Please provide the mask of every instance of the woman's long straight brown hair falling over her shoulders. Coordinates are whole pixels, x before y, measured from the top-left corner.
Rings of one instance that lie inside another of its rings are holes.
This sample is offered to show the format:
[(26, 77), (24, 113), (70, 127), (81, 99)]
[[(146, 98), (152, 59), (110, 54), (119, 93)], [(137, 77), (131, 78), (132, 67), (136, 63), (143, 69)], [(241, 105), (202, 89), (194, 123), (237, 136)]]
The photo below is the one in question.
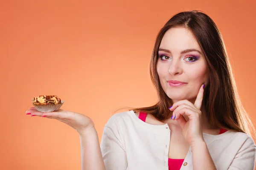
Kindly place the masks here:
[(206, 57), (209, 84), (205, 88), (203, 101), (209, 123), (214, 127), (236, 130), (250, 136), (251, 128), (255, 135), (250, 117), (241, 105), (221, 33), (213, 20), (202, 11), (180, 12), (159, 31), (150, 60), (150, 77), (157, 90), (159, 101), (150, 107), (130, 108), (130, 110), (146, 112), (160, 121), (172, 115), (169, 107), (173, 103), (160, 85), (156, 66), (163, 35), (173, 27), (185, 27), (192, 31)]

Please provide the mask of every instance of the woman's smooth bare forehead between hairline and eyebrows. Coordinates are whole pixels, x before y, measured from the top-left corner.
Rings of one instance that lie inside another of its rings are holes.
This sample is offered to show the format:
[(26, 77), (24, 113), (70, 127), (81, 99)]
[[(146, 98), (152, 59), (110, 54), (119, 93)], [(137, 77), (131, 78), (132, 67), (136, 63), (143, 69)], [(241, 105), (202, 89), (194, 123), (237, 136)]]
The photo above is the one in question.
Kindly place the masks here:
[(170, 28), (163, 36), (160, 48), (171, 51), (182, 51), (189, 48), (195, 48), (201, 51), (201, 48), (194, 35), (188, 28), (175, 27)]

